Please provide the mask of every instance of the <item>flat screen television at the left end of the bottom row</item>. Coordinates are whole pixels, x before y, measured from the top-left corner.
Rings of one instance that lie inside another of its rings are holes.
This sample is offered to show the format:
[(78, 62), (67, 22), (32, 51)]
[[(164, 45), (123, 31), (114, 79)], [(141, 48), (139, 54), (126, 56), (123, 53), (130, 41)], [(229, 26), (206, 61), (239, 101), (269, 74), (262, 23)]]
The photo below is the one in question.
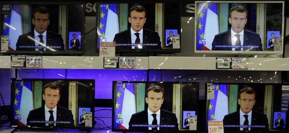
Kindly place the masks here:
[(11, 79), (10, 126), (14, 131), (89, 131), (94, 128), (94, 85), (88, 79)]

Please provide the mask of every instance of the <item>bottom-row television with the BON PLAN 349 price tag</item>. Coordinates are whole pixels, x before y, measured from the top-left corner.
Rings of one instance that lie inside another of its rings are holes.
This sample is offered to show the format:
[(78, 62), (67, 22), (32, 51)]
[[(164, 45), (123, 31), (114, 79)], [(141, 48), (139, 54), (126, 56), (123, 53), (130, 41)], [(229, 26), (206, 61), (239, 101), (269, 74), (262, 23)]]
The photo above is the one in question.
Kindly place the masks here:
[[(256, 95), (253, 91), (244, 88), (254, 89)], [(241, 93), (238, 96), (239, 92)], [(248, 124), (249, 133), (267, 133), (269, 131), (270, 133), (288, 133), (289, 131), (289, 85), (206, 83), (206, 94), (207, 122), (223, 121), (225, 132), (248, 132), (243, 129), (246, 125), (245, 118), (240, 114), (250, 111), (252, 113), (248, 113), (248, 120), (251, 118)], [(255, 101), (253, 95), (255, 95)], [(279, 115), (282, 119), (280, 121), (278, 120)]]

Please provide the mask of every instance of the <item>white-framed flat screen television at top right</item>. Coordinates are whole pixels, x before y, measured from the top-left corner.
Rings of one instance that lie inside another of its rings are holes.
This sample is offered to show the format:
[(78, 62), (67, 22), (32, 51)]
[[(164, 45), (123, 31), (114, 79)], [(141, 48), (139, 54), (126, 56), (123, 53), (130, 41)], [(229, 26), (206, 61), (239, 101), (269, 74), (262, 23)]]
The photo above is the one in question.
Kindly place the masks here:
[[(240, 5), (247, 10), (247, 17)], [(229, 14), (232, 7), (240, 8), (240, 12), (234, 8)], [(283, 54), (284, 10), (285, 1), (282, 0), (195, 1), (194, 51), (213, 54)], [(242, 16), (236, 16), (239, 14)], [(240, 40), (236, 34), (240, 35)]]

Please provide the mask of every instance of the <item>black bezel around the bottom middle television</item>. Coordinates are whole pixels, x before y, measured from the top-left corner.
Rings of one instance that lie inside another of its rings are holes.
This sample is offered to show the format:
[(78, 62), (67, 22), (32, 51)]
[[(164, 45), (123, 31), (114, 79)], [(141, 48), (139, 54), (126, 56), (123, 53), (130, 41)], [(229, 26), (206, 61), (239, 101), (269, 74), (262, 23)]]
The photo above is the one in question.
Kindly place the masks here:
[[(184, 133), (184, 132), (192, 132), (192, 133), (197, 133), (198, 131), (201, 131), (201, 129), (198, 129), (200, 126), (199, 126), (199, 124), (200, 124), (200, 122), (202, 121), (201, 119), (201, 116), (198, 116), (200, 113), (199, 113), (199, 111), (200, 111), (200, 107), (199, 107), (199, 91), (200, 91), (200, 83), (199, 82), (153, 82), (153, 81), (113, 81), (112, 82), (112, 96), (113, 96), (113, 98), (116, 96), (116, 93), (115, 93), (115, 84), (116, 83), (133, 83), (133, 84), (137, 84), (137, 83), (140, 83), (140, 84), (194, 84), (194, 85), (197, 85), (198, 87), (198, 89), (196, 90), (197, 91), (197, 99), (198, 99), (198, 101), (197, 101), (197, 105), (196, 105), (196, 110), (194, 110), (195, 112), (196, 112), (196, 116), (197, 116), (197, 121), (199, 121), (198, 123), (197, 123), (197, 131), (190, 131), (190, 130), (185, 130), (185, 129), (183, 129), (182, 127), (183, 127), (183, 118), (180, 118), (181, 120), (178, 120), (178, 122), (181, 122), (181, 124), (180, 123), (178, 123), (178, 125), (181, 127), (181, 129), (179, 129), (179, 131), (173, 131), (173, 130), (167, 130), (167, 131), (151, 131), (151, 130), (138, 130), (138, 131), (134, 131), (134, 130), (121, 130), (121, 129), (114, 129), (114, 114), (115, 114), (115, 105), (116, 105), (116, 100), (115, 99), (113, 99), (113, 101), (112, 101), (112, 103), (113, 103), (113, 105), (112, 105), (112, 107), (113, 107), (113, 109), (112, 109), (112, 131), (113, 132), (146, 132), (146, 133), (149, 133), (149, 132), (151, 132), (151, 133)], [(182, 99), (181, 99), (182, 100)], [(183, 111), (185, 111), (185, 110), (182, 110), (180, 113), (183, 113)], [(179, 115), (183, 115), (183, 114), (179, 114)], [(176, 116), (177, 116), (177, 114), (176, 114)]]

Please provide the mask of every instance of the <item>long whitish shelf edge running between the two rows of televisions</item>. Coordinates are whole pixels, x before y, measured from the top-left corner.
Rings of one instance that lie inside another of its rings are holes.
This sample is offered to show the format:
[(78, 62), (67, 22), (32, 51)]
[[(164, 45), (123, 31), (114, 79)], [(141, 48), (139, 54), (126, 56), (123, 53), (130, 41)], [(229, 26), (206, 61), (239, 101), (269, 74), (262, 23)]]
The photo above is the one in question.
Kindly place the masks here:
[[(44, 69), (104, 69), (99, 56), (42, 56)], [(10, 56), (0, 56), (0, 68), (10, 66)], [(248, 58), (248, 69), (216, 69), (216, 57), (136, 57), (136, 69), (289, 71), (289, 58)]]

